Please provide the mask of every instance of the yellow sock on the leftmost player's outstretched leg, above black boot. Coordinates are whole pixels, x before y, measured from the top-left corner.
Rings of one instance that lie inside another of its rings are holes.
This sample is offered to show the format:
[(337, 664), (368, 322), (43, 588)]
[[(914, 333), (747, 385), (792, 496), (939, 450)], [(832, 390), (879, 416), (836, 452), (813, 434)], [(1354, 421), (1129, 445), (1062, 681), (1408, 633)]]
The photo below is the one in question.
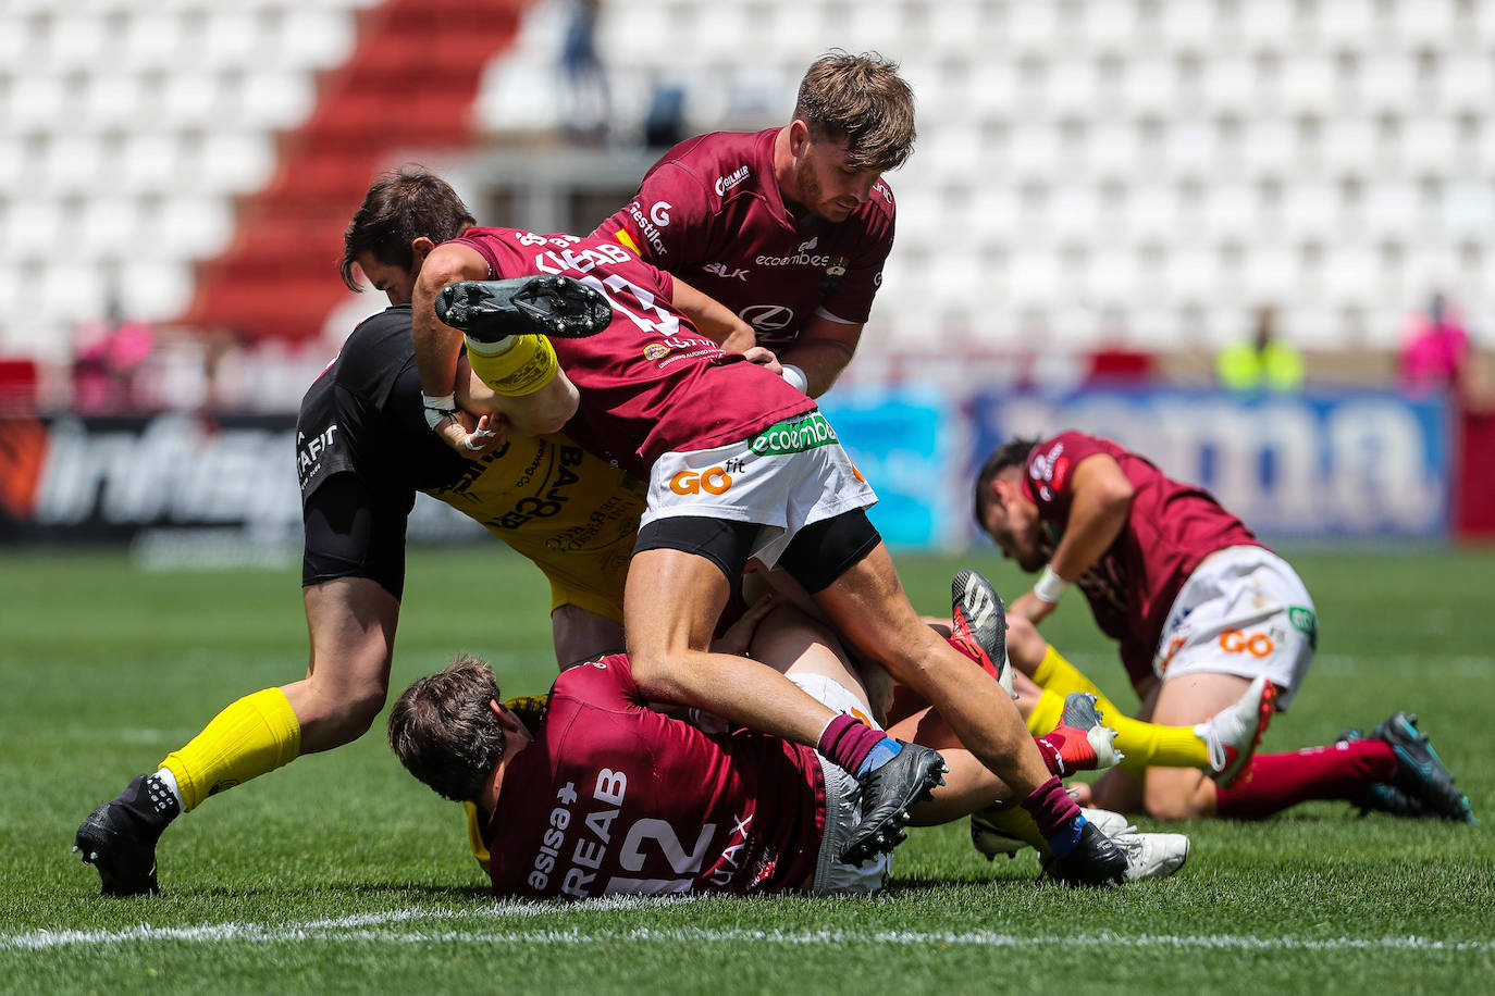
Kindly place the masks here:
[(289, 765), (300, 754), (300, 723), (280, 688), (265, 688), (229, 705), (161, 768), (176, 782), (182, 811), (208, 796)]

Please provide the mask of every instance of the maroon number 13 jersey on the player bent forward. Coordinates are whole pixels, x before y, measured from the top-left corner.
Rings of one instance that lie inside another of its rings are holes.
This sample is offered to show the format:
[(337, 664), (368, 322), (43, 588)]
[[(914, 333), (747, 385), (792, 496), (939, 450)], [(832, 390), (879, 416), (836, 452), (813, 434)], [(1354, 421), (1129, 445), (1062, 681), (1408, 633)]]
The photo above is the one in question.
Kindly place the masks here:
[(815, 409), (767, 369), (727, 354), (676, 312), (674, 281), (611, 239), (468, 228), (493, 278), (564, 273), (601, 291), (613, 324), (556, 339), (582, 402), (567, 435), (641, 481), (661, 454), (722, 446)]

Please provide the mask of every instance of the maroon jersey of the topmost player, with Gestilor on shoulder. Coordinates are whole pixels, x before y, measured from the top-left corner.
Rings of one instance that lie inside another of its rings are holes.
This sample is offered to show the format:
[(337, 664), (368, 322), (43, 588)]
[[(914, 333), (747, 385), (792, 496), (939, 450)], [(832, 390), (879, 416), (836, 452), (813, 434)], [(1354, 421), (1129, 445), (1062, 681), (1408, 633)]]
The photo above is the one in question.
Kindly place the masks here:
[(777, 133), (715, 131), (682, 142), (594, 233), (625, 231), (646, 260), (731, 308), (758, 345), (774, 351), (819, 309), (867, 321), (894, 217), (893, 190), (881, 179), (842, 222), (786, 205), (773, 176)]

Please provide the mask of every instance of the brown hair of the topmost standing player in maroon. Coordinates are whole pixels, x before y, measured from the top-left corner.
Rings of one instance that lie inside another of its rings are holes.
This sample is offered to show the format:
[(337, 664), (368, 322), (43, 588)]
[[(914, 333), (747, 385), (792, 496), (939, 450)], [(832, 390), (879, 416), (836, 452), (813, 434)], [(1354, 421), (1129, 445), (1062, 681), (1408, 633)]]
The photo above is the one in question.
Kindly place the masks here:
[(834, 49), (815, 60), (794, 118), (816, 139), (846, 139), (846, 161), (857, 169), (897, 169), (913, 152), (913, 91), (898, 64), (876, 52)]

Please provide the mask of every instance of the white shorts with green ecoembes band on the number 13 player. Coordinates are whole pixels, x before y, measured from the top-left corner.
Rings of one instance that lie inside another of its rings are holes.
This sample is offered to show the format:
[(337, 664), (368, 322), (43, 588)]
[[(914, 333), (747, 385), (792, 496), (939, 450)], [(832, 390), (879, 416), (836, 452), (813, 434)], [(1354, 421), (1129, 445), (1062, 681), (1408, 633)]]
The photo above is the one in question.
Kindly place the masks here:
[(749, 555), (773, 567), (806, 526), (876, 505), (819, 411), (713, 449), (667, 452), (649, 473), (649, 503), (638, 521), (673, 515), (762, 526)]

